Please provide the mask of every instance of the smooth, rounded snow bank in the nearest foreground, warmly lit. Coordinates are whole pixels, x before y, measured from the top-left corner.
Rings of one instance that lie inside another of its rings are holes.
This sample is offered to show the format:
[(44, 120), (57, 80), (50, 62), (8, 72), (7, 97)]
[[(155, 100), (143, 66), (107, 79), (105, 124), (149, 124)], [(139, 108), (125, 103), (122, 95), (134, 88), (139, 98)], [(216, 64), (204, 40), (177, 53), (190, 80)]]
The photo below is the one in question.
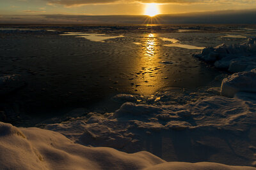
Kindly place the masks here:
[(148, 152), (124, 153), (73, 143), (58, 132), (0, 122), (1, 169), (256, 169), (210, 162), (165, 162)]

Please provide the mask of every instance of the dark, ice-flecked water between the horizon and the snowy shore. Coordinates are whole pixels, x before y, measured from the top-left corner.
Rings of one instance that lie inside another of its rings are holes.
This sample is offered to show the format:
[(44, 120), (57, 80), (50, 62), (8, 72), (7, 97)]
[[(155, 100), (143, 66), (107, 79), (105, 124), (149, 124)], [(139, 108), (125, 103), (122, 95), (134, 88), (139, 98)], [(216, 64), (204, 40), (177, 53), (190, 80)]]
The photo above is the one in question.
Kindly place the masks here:
[[(2, 97), (1, 110), (30, 117), (61, 115), (74, 108), (111, 111), (118, 107), (111, 97), (120, 93), (150, 96), (165, 87), (204, 87), (220, 71), (195, 59), (192, 54), (198, 49), (166, 45), (177, 41), (204, 47), (245, 40), (221, 37), (225, 32), (250, 36), (244, 27), (218, 25), (25, 27), (33, 31), (2, 27), (0, 76), (20, 74), (26, 86)], [(90, 34), (61, 36), (65, 32)], [(118, 37), (102, 42), (99, 36), (93, 39), (95, 34)]]

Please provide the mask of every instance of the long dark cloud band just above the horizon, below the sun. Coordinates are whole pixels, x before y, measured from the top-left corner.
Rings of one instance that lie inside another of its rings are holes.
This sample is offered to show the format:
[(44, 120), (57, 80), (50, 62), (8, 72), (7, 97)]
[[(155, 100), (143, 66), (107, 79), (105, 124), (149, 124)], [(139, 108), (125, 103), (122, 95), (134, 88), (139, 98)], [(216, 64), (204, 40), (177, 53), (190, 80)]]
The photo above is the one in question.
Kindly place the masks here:
[[(15, 20), (13, 19), (15, 18)], [(256, 10), (157, 15), (152, 24), (256, 24)], [(0, 24), (147, 24), (145, 15), (4, 15)], [(150, 23), (151, 24), (151, 23)]]

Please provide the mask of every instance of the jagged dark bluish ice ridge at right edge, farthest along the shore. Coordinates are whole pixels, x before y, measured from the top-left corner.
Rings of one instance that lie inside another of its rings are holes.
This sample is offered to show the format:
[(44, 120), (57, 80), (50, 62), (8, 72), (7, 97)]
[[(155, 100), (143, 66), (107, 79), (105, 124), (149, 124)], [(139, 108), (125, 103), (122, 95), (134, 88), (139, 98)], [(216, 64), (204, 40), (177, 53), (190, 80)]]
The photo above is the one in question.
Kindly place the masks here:
[(204, 48), (195, 57), (214, 62), (214, 66), (231, 72), (250, 71), (256, 68), (256, 38), (249, 38), (240, 45), (222, 44)]

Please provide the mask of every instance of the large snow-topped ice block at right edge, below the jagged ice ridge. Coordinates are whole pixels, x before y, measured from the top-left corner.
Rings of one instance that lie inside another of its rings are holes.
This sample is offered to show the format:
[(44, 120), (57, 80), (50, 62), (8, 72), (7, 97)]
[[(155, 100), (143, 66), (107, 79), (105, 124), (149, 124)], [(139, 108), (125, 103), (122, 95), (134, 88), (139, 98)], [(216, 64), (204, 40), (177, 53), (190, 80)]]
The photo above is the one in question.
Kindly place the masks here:
[(234, 97), (237, 92), (256, 93), (256, 69), (234, 73), (223, 79), (221, 95)]

